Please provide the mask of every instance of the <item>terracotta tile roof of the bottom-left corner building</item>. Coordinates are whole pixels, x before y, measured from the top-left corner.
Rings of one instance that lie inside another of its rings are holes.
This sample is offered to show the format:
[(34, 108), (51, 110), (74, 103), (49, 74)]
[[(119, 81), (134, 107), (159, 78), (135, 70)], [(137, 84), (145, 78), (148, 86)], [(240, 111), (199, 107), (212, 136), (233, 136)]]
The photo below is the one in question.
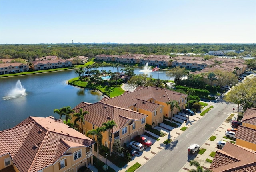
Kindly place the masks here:
[(20, 172), (37, 172), (56, 162), (68, 147), (95, 143), (52, 116), (29, 117), (22, 123), (0, 131), (0, 156), (10, 153)]

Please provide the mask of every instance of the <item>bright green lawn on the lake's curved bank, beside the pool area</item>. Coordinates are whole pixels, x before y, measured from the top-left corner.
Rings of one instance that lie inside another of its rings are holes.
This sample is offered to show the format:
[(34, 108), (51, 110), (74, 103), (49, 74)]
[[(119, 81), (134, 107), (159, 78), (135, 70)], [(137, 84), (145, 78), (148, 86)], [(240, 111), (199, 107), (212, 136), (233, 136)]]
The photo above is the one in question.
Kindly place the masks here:
[(68, 80), (68, 83), (71, 85), (74, 85), (74, 86), (82, 87), (82, 88), (90, 88), (90, 89), (99, 90), (100, 92), (102, 92), (103, 94), (106, 94), (110, 98), (119, 96), (125, 92), (121, 88), (121, 86), (111, 87), (111, 86), (100, 85), (100, 84), (88, 84), (88, 82), (79, 80), (78, 77)]

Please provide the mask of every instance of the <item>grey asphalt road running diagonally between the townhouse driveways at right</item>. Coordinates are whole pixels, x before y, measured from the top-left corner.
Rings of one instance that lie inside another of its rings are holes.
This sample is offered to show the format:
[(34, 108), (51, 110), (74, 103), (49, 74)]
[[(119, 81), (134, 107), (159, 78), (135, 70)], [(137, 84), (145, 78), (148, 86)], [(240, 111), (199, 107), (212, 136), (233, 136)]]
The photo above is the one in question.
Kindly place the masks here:
[(193, 155), (188, 157), (188, 146), (196, 143), (201, 147), (236, 106), (224, 101), (211, 104), (214, 105), (212, 110), (180, 134), (171, 144), (166, 145), (165, 149), (158, 152), (136, 172), (178, 172), (181, 170), (190, 158), (193, 159)]

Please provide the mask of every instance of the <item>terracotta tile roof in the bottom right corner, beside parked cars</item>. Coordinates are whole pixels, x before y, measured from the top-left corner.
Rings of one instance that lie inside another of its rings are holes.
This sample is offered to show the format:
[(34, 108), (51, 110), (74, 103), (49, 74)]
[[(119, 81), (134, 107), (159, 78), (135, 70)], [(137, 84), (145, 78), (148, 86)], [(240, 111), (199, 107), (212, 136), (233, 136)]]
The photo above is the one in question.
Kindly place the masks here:
[(216, 152), (210, 170), (213, 172), (245, 172), (245, 170), (255, 172), (256, 152), (227, 142), (222, 150)]

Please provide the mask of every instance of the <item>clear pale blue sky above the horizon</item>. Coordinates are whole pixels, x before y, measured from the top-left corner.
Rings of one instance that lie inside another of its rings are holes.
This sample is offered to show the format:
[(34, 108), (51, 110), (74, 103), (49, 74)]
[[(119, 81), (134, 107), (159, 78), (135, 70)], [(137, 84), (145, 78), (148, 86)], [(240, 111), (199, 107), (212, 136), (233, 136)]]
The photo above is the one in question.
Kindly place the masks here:
[(0, 0), (0, 44), (256, 43), (256, 0)]

